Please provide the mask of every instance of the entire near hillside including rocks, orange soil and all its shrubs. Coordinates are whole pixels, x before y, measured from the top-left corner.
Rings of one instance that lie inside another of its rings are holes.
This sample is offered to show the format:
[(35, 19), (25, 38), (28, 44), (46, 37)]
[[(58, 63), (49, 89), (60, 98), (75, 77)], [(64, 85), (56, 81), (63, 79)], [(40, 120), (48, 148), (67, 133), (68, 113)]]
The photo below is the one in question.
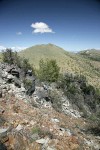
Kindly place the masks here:
[(40, 61), (35, 77), (29, 61), (11, 49), (3, 52), (3, 61), (0, 148), (100, 149), (100, 91), (87, 76), (61, 74), (57, 61), (47, 59)]

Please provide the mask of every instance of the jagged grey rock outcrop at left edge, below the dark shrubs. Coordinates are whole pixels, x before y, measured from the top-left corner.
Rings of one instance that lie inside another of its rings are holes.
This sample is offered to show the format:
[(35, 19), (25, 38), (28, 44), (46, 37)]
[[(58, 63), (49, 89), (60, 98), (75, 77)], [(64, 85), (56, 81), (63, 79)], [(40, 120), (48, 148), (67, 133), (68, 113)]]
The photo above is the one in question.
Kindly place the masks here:
[[(22, 97), (24, 95), (32, 95), (35, 91), (35, 77), (29, 72), (26, 76), (23, 71), (14, 65), (0, 64), (0, 97), (10, 93)], [(28, 88), (25, 87), (24, 81), (30, 81)]]

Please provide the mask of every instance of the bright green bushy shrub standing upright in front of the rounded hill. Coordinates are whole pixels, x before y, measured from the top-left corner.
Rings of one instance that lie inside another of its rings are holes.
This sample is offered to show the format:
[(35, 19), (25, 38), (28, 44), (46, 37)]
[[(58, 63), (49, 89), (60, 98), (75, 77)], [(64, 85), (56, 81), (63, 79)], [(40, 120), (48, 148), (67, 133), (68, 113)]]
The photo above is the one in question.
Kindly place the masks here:
[(56, 82), (59, 77), (60, 68), (56, 60), (43, 59), (39, 62), (38, 77), (41, 81)]

